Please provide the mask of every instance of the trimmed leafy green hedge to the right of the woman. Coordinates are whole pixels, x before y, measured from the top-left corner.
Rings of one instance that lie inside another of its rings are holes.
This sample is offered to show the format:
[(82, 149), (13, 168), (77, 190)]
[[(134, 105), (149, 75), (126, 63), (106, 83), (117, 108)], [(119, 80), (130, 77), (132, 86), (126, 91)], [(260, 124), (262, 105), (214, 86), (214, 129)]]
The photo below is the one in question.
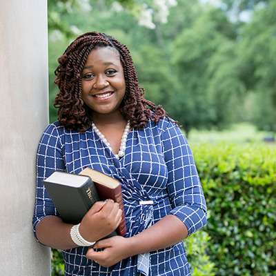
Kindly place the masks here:
[(193, 146), (219, 276), (276, 275), (276, 145)]

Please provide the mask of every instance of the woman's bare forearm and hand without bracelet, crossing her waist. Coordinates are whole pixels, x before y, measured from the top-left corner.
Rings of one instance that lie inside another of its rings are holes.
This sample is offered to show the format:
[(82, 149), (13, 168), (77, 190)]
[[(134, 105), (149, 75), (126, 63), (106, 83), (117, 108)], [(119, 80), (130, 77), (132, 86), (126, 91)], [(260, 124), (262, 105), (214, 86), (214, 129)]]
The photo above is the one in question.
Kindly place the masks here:
[[(188, 235), (186, 225), (175, 215), (167, 215), (133, 237), (103, 239), (88, 249), (86, 257), (101, 266), (112, 266), (139, 253), (152, 252), (181, 242)], [(103, 248), (96, 252), (94, 249)]]

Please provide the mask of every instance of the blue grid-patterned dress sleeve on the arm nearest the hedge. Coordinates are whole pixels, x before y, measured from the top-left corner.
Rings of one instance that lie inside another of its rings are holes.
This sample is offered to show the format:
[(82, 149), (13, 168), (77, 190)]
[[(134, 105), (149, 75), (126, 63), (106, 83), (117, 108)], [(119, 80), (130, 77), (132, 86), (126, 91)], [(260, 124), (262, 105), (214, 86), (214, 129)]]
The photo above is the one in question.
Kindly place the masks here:
[(168, 167), (168, 193), (172, 202), (170, 214), (177, 216), (192, 235), (206, 225), (206, 201), (186, 137), (174, 124), (161, 135)]

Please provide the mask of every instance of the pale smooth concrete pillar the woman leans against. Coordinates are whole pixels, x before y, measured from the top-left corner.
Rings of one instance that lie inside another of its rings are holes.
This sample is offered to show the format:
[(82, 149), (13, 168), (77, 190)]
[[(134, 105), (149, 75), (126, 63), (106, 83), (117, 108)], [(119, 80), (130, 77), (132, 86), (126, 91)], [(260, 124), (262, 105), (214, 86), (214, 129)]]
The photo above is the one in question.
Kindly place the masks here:
[(32, 233), (37, 144), (48, 125), (47, 1), (0, 4), (0, 274), (50, 275), (50, 249)]

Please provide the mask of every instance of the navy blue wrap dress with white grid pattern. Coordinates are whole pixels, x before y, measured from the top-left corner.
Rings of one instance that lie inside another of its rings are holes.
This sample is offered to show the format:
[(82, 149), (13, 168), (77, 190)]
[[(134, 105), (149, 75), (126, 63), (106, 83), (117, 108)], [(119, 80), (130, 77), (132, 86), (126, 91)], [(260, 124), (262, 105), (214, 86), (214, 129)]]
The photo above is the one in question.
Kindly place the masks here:
[[(90, 166), (121, 181), (127, 233), (137, 235), (162, 217), (177, 216), (191, 235), (206, 224), (206, 201), (190, 146), (181, 130), (164, 118), (132, 129), (121, 159), (110, 152), (94, 130), (83, 134), (66, 130), (59, 122), (43, 132), (37, 151), (37, 196), (34, 235), (39, 221), (59, 216), (43, 186), (54, 170), (78, 174)], [(139, 201), (152, 200), (152, 205)], [(86, 247), (63, 250), (65, 275), (190, 275), (183, 242), (136, 255), (104, 268), (86, 258)]]

